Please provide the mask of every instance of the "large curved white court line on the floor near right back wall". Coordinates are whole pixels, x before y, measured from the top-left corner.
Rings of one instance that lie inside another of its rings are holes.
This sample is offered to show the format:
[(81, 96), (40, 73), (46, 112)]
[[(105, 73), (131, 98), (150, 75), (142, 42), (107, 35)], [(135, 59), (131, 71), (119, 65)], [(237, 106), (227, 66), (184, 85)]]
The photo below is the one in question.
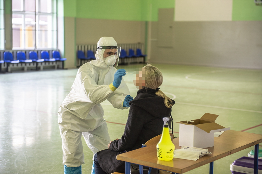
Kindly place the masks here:
[(190, 78), (192, 76), (196, 76), (196, 75), (201, 75), (201, 74), (211, 74), (211, 73), (219, 73), (219, 72), (227, 72), (227, 71), (236, 71), (238, 69), (223, 69), (223, 70), (215, 70), (215, 71), (206, 71), (206, 72), (199, 72), (199, 73), (191, 73), (191, 74), (188, 74), (185, 76), (185, 78), (187, 80), (191, 80), (191, 81), (196, 81), (196, 82), (211, 82), (211, 83), (231, 83), (231, 84), (259, 84), (259, 83), (262, 83), (262, 82), (232, 82), (232, 81), (213, 81), (213, 80), (198, 80), (198, 79), (193, 79), (193, 78)]

